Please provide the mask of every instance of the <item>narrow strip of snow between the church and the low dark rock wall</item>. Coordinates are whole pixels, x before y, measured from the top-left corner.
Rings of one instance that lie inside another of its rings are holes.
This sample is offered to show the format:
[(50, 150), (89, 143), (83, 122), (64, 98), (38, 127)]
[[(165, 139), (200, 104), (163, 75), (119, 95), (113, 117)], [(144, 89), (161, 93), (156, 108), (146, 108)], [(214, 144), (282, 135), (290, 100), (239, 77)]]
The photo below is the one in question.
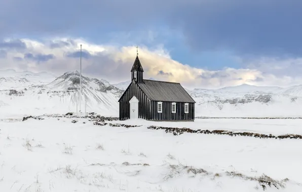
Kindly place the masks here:
[[(125, 121), (116, 121), (125, 123)], [(154, 125), (162, 127), (177, 127), (202, 130), (227, 130), (254, 132), (260, 134), (301, 134), (302, 119), (195, 119), (194, 122), (157, 122), (127, 120), (129, 125)]]

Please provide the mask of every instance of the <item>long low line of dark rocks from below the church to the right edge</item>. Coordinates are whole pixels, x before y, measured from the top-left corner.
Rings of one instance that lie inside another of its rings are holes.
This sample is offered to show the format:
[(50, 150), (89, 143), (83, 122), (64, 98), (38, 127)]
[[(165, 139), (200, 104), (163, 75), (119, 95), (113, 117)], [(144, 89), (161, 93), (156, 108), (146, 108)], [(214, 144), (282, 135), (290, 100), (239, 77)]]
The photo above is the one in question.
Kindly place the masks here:
[(203, 133), (203, 134), (219, 134), (219, 135), (229, 135), (229, 136), (249, 136), (255, 138), (275, 138), (275, 139), (302, 139), (302, 135), (297, 134), (286, 134), (286, 135), (279, 135), (275, 136), (272, 134), (259, 134), (259, 133), (252, 133), (252, 132), (234, 132), (234, 131), (226, 131), (226, 130), (193, 130), (190, 128), (173, 128), (173, 127), (160, 127), (160, 126), (149, 126), (148, 129), (163, 129), (166, 133), (173, 133), (173, 135), (181, 135), (183, 133)]

